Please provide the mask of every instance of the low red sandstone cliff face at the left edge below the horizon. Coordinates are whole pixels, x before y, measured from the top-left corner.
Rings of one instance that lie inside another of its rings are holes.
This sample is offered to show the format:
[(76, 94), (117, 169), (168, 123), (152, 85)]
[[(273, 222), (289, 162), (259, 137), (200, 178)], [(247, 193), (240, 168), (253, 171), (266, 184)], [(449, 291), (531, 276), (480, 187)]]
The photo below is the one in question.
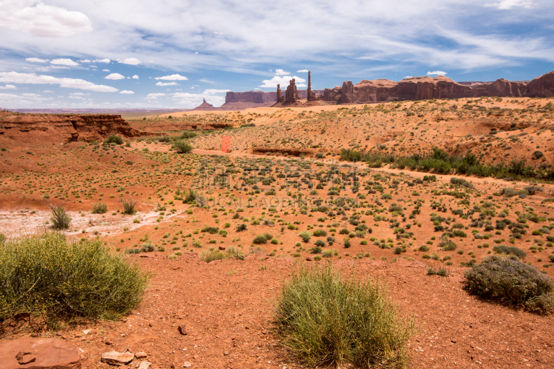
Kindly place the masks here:
[(144, 134), (130, 127), (118, 115), (28, 115), (6, 112), (0, 118), (0, 136), (24, 142), (90, 142), (102, 140), (109, 134), (125, 137)]

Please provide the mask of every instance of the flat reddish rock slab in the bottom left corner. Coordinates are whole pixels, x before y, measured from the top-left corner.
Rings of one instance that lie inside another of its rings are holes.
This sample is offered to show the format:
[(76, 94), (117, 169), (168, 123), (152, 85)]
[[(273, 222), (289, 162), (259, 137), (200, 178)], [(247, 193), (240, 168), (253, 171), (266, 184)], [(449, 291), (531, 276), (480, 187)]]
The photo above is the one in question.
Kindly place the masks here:
[(63, 339), (21, 337), (0, 343), (0, 369), (80, 369), (77, 348)]

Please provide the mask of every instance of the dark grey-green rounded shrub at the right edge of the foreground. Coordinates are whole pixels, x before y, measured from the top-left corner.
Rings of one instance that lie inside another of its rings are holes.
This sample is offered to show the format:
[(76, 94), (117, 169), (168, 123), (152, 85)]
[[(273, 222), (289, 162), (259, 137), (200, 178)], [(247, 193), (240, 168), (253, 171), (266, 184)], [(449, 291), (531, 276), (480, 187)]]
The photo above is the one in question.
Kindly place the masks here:
[(470, 294), (523, 305), (538, 312), (554, 309), (554, 283), (546, 274), (519, 260), (493, 255), (465, 272)]

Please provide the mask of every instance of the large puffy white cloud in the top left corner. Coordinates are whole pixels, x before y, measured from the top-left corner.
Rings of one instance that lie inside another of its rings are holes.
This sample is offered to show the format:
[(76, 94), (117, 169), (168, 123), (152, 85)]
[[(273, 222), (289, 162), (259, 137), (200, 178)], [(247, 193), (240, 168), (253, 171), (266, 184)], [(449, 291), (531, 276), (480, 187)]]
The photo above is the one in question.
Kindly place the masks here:
[(30, 33), (37, 37), (71, 37), (91, 32), (90, 19), (75, 12), (37, 3), (35, 0), (0, 2), (0, 28)]

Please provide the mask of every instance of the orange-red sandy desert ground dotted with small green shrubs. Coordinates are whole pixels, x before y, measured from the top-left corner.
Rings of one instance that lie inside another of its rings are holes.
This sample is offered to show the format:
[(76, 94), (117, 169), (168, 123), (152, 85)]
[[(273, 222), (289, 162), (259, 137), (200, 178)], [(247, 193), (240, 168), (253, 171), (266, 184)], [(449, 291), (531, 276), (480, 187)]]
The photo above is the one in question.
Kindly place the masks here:
[(276, 298), (298, 265), (331, 263), (382, 280), (414, 319), (410, 367), (548, 368), (551, 314), (464, 280), (490, 255), (554, 276), (552, 101), (2, 111), (5, 242), (50, 234), (60, 206), (68, 240), (100, 240), (151, 273), (116, 321), (37, 331), (39, 317), (13, 317), (3, 340), (62, 337), (85, 368), (108, 368), (111, 351), (139, 352), (128, 366), (303, 367), (279, 339)]

